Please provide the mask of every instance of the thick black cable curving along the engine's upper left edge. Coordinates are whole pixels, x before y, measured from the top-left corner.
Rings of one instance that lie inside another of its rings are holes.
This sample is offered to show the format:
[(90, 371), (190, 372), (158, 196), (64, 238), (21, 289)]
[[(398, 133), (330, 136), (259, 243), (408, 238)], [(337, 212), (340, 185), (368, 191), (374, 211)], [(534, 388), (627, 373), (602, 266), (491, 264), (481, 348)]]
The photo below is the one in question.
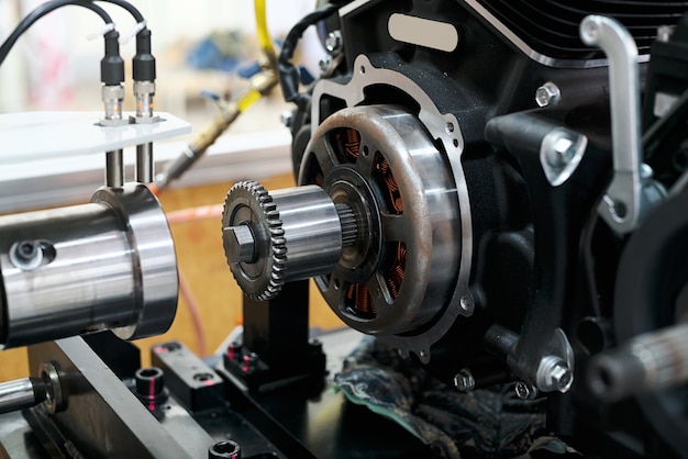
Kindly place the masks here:
[(279, 52), (278, 71), (279, 71), (279, 85), (281, 86), (282, 96), (287, 102), (301, 102), (299, 99), (302, 94), (299, 93), (300, 74), (299, 69), (291, 63), (293, 53), (296, 52), (297, 44), (303, 32), (317, 22), (322, 21), (332, 13), (334, 13), (339, 7), (334, 4), (328, 4), (312, 13), (306, 15), (289, 31), (285, 43)]

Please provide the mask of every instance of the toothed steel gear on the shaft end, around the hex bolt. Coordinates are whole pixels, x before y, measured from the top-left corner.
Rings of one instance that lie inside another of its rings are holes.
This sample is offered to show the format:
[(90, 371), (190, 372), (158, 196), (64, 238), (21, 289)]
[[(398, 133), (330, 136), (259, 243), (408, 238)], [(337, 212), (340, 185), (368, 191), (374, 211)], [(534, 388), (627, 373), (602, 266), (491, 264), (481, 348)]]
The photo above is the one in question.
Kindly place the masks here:
[[(244, 225), (251, 232), (252, 256), (235, 254), (236, 235), (231, 228)], [(235, 183), (224, 201), (222, 240), (234, 279), (253, 300), (266, 301), (279, 293), (285, 283), (287, 244), (285, 229), (273, 197), (258, 182)], [(267, 244), (256, 244), (260, 240)]]

